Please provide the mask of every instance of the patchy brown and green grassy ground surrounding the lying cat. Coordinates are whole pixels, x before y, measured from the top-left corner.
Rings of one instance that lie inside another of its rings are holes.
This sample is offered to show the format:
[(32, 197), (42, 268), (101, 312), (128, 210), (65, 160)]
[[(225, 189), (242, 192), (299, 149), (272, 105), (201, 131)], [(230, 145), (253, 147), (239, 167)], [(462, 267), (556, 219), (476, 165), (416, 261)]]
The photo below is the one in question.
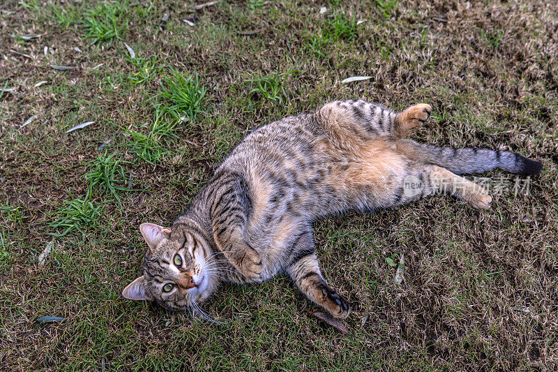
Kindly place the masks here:
[[(556, 1), (199, 3), (1, 3), (0, 369), (555, 369)], [(253, 128), (335, 98), (428, 103), (416, 140), (543, 172), (519, 193), (484, 174), (488, 211), (437, 196), (317, 222), (349, 335), (285, 276), (225, 287), (204, 305), (224, 324), (121, 297), (140, 223), (171, 222)]]

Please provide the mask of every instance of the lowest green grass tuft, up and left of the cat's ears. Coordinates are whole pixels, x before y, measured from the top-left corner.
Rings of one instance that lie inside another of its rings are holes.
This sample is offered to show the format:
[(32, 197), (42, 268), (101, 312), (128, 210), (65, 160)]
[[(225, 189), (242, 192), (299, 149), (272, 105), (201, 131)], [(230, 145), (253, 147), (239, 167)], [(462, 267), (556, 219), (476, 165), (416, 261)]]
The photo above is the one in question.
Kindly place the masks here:
[(63, 237), (74, 230), (82, 232), (82, 228), (95, 223), (100, 215), (100, 206), (95, 207), (89, 198), (65, 200), (64, 203), (66, 205), (54, 213), (54, 222), (48, 225), (55, 230), (63, 229), (60, 233), (50, 233), (55, 237)]

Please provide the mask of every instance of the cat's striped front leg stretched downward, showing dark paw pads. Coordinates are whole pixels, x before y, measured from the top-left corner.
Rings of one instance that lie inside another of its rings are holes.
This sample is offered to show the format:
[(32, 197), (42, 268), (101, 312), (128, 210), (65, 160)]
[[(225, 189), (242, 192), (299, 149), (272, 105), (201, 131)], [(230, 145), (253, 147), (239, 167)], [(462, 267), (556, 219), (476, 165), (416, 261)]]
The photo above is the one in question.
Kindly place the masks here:
[(319, 270), (314, 250), (312, 232), (300, 235), (294, 246), (295, 255), (287, 267), (287, 273), (308, 299), (325, 308), (335, 318), (347, 318), (351, 308), (345, 299), (326, 283)]

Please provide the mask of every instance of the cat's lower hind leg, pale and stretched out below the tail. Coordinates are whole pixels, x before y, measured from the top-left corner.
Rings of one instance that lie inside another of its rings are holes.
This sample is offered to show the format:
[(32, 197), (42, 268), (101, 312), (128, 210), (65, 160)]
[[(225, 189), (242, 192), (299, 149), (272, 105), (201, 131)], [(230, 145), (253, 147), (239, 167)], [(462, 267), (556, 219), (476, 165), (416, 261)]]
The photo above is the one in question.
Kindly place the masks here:
[(480, 185), (437, 165), (426, 165), (417, 176), (409, 174), (403, 184), (404, 202), (435, 193), (448, 193), (465, 200), (476, 209), (489, 209), (492, 198)]

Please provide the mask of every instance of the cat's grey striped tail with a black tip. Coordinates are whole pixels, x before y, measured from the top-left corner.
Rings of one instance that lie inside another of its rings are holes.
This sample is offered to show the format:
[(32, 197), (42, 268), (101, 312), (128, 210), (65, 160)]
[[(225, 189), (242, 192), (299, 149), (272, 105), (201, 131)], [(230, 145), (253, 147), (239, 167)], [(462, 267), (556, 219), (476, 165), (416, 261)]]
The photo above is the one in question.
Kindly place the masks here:
[(455, 174), (482, 173), (499, 168), (515, 174), (534, 175), (541, 173), (543, 169), (542, 163), (510, 151), (469, 147), (453, 149), (413, 140), (400, 140), (397, 147), (417, 161), (439, 165)]

